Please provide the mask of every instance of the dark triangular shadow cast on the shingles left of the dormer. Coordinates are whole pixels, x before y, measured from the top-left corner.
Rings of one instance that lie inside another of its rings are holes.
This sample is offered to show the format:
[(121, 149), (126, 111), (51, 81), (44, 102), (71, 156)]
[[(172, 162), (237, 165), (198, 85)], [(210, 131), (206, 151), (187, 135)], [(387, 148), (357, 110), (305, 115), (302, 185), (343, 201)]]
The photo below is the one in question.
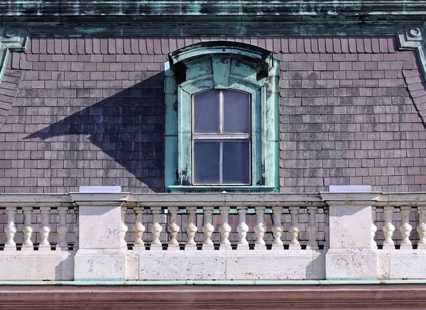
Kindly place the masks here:
[[(153, 192), (163, 192), (163, 80), (163, 73), (152, 75), (31, 133), (25, 139), (46, 140), (60, 135), (89, 135), (91, 143), (114, 158)], [(85, 98), (86, 103), (93, 99)]]

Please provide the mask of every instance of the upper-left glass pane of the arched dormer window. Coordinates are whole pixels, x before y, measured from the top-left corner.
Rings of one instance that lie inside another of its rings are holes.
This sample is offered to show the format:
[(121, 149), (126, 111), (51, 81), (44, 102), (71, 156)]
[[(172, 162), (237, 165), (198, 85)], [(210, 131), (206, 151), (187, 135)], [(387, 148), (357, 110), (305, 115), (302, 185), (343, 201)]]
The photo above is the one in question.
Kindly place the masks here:
[(202, 92), (194, 96), (194, 132), (219, 132), (219, 91)]

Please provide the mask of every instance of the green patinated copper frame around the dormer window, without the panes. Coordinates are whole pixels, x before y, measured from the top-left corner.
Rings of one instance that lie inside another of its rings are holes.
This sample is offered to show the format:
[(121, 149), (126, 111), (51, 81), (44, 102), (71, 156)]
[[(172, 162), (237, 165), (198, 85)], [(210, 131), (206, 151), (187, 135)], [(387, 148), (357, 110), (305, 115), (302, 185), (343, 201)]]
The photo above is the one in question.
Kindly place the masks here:
[[(278, 72), (271, 52), (244, 43), (199, 43), (165, 63), (165, 190), (278, 192)], [(212, 89), (248, 93), (251, 184), (192, 184), (192, 96)]]

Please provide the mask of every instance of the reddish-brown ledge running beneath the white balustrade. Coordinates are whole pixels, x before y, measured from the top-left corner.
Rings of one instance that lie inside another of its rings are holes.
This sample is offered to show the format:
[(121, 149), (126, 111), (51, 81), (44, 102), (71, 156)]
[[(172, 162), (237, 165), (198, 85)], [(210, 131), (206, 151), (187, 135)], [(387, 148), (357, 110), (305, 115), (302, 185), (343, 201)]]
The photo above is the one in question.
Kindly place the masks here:
[(8, 286), (0, 309), (420, 309), (426, 284)]

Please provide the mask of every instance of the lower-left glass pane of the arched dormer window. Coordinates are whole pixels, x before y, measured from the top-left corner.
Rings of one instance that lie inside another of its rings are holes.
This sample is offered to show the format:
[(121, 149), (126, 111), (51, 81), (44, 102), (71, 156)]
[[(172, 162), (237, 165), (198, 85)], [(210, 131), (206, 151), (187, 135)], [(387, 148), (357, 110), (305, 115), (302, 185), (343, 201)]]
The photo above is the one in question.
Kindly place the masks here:
[(219, 184), (220, 142), (194, 141), (194, 183)]

